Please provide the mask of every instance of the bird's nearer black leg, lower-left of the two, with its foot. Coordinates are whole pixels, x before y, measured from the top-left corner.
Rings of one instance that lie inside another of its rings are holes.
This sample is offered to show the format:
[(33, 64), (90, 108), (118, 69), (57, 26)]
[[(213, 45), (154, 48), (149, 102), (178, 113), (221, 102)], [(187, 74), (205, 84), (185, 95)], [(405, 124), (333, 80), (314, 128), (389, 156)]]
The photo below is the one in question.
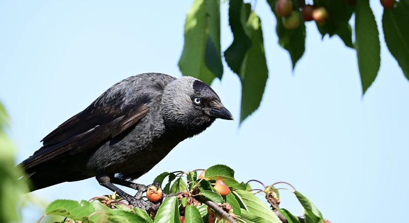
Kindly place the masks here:
[(108, 176), (108, 175), (97, 175), (97, 180), (101, 186), (104, 186), (108, 189), (110, 189), (113, 192), (117, 192), (119, 196), (121, 196), (123, 199), (129, 202), (130, 205), (133, 207), (140, 208), (142, 210), (145, 210), (147, 213), (150, 213), (153, 209), (156, 209), (159, 204), (152, 203), (150, 201), (144, 201), (143, 199), (137, 199), (133, 197), (132, 195), (124, 192), (123, 190), (119, 189), (117, 186), (115, 186), (112, 182), (111, 179), (113, 179), (113, 176)]

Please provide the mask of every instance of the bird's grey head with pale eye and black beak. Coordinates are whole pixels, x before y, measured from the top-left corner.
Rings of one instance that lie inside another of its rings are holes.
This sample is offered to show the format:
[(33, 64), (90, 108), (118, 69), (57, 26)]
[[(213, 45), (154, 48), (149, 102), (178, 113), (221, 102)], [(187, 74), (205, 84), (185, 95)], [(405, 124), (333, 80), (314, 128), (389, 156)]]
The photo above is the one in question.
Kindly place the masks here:
[(216, 118), (233, 120), (219, 96), (207, 84), (193, 77), (182, 77), (169, 83), (162, 96), (166, 124), (198, 134)]

